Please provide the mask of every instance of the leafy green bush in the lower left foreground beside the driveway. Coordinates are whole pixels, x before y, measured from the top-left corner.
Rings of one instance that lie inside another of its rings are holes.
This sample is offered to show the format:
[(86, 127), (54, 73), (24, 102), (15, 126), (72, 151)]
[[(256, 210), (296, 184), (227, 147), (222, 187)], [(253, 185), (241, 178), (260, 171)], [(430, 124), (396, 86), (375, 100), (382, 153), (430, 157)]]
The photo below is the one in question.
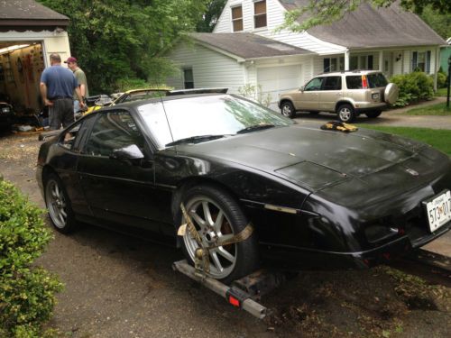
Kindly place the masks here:
[(32, 267), (51, 241), (42, 211), (0, 178), (0, 336), (43, 337), (60, 281)]

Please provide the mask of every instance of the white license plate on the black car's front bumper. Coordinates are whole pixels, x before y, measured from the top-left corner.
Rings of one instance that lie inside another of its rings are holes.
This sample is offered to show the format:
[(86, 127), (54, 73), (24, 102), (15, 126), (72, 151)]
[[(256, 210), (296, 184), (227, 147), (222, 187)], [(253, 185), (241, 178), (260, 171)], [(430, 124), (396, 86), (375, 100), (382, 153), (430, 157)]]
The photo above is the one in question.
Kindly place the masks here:
[(424, 204), (431, 233), (451, 221), (451, 193), (449, 190), (424, 201)]

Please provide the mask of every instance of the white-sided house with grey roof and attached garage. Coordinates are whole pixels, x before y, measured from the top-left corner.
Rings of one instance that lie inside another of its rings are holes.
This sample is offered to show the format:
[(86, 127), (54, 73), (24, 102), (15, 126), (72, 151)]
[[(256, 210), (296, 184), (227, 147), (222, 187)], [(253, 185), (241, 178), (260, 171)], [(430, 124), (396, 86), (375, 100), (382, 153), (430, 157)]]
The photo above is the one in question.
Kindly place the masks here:
[[(192, 33), (166, 53), (180, 69), (176, 88), (260, 87), (277, 102), (281, 92), (314, 75), (344, 69), (381, 69), (387, 77), (421, 69), (437, 73), (446, 44), (416, 14), (394, 3), (364, 3), (329, 25), (306, 32), (277, 31), (284, 14), (308, 0), (228, 0), (212, 33)], [(264, 37), (259, 40), (258, 37)]]

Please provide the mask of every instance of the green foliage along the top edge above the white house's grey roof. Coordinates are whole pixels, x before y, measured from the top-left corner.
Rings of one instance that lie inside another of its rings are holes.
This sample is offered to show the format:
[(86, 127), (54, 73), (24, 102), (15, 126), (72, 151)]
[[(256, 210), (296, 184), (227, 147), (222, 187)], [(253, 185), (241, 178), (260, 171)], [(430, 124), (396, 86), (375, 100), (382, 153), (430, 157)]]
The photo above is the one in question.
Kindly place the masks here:
[[(292, 32), (302, 32), (319, 24), (334, 23), (346, 13), (352, 12), (364, 2), (379, 7), (388, 7), (396, 0), (306, 0), (305, 5), (293, 9), (285, 14), (285, 21), (280, 29)], [(416, 14), (430, 6), (439, 14), (451, 13), (449, 0), (400, 0), (400, 5)], [(302, 18), (303, 20), (299, 20)]]

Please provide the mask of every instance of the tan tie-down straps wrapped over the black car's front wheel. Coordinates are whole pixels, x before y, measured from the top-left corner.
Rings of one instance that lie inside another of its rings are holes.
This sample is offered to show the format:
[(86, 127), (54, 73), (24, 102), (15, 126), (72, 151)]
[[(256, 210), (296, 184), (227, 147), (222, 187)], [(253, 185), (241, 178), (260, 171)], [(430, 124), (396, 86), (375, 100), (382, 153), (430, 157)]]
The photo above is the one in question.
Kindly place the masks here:
[(210, 272), (210, 260), (208, 257), (211, 249), (216, 249), (220, 246), (226, 246), (238, 242), (244, 242), (253, 234), (253, 224), (247, 224), (244, 229), (240, 233), (235, 234), (234, 237), (226, 241), (216, 241), (216, 243), (212, 245), (205, 246), (200, 238), (200, 235), (198, 234), (198, 231), (196, 230), (196, 226), (193, 224), (191, 217), (189, 217), (187, 209), (183, 206), (183, 204), (180, 204), (180, 209), (187, 223), (179, 226), (177, 234), (179, 236), (184, 236), (188, 228), (189, 234), (198, 243), (198, 249), (196, 249), (194, 254), (194, 267), (198, 271), (201, 271), (204, 276)]

